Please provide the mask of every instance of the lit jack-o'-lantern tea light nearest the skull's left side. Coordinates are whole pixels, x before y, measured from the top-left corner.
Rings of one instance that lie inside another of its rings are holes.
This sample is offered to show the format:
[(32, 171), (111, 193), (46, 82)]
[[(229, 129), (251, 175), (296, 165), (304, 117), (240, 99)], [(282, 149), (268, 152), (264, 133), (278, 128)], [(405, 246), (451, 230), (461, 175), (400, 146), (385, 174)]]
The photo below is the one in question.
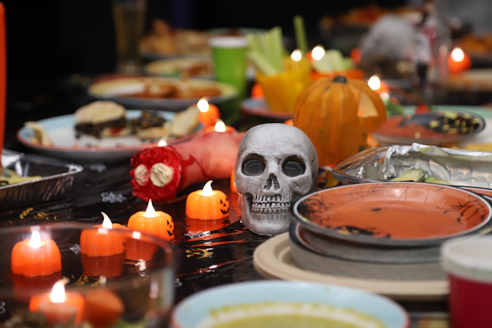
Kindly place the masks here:
[(212, 190), (209, 180), (202, 190), (193, 191), (186, 198), (186, 216), (192, 219), (213, 220), (229, 216), (229, 199), (220, 190)]

